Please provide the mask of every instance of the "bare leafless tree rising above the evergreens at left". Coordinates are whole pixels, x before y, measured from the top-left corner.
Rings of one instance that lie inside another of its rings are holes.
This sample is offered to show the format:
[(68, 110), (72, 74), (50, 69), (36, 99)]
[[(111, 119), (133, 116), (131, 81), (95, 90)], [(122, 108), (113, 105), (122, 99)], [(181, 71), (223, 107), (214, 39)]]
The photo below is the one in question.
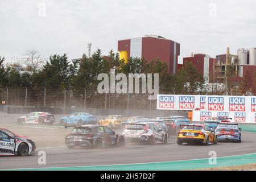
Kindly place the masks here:
[(38, 71), (38, 69), (40, 69), (40, 67), (42, 67), (44, 63), (46, 63), (46, 59), (43, 59), (39, 55), (39, 52), (35, 49), (28, 50), (26, 53), (24, 53), (24, 56), (26, 56), (24, 64), (26, 64), (29, 71), (31, 70), (33, 72), (36, 72)]

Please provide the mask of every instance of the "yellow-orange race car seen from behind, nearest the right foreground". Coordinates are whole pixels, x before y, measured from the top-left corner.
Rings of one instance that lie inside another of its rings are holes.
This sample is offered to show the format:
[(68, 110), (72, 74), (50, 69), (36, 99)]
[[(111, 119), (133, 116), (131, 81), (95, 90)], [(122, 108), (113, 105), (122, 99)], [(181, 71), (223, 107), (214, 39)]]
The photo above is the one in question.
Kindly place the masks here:
[(209, 143), (217, 144), (217, 135), (213, 133), (207, 125), (189, 124), (184, 125), (183, 129), (177, 134), (177, 144), (183, 143), (201, 143), (208, 145)]

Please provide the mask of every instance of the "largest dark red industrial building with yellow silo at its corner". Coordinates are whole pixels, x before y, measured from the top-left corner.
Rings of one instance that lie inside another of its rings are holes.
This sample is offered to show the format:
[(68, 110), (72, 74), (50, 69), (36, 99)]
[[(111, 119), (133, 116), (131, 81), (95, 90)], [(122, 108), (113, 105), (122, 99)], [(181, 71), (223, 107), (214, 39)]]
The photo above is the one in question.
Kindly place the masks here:
[(141, 38), (118, 40), (120, 58), (144, 58), (147, 62), (159, 59), (167, 63), (169, 72), (176, 73), (180, 44), (158, 35), (145, 35)]

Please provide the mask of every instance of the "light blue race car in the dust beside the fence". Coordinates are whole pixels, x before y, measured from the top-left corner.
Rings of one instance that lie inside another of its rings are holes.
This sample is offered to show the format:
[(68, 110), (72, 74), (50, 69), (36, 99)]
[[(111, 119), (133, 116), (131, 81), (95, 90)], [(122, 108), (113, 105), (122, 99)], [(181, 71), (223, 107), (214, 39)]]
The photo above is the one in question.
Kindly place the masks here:
[(68, 126), (82, 126), (82, 125), (96, 125), (98, 119), (89, 113), (72, 113), (68, 117), (60, 119), (60, 125)]

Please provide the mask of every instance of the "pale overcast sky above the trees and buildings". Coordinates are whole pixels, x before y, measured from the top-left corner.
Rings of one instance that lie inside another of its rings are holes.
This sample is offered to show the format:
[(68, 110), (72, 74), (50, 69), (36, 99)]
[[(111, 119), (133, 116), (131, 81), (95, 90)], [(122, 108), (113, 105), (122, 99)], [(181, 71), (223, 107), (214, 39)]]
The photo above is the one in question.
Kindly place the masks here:
[(215, 57), (227, 46), (256, 47), (254, 0), (0, 0), (0, 56), (22, 59), (28, 49), (69, 59), (117, 51), (117, 41), (156, 34), (181, 44), (182, 58)]

